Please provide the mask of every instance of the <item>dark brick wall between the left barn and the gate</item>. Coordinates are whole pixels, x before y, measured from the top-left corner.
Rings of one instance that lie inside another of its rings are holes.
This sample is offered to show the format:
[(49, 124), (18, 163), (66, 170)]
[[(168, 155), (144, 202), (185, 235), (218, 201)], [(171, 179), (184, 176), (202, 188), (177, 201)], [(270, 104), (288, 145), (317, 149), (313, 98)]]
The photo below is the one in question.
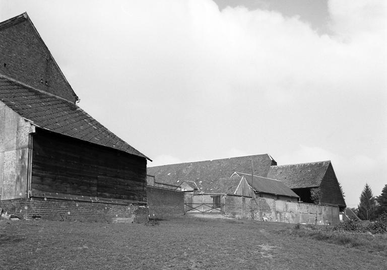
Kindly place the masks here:
[(149, 214), (156, 218), (184, 215), (184, 193), (181, 191), (147, 187)]

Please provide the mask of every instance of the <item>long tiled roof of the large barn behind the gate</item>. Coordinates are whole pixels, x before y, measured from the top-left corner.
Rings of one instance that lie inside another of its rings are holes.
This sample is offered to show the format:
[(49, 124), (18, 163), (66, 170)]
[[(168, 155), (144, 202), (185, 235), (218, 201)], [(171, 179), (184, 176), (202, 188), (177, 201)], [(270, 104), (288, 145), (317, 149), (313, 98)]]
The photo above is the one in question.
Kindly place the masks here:
[(259, 176), (266, 176), (270, 166), (276, 164), (268, 154), (263, 154), (148, 167), (148, 173), (154, 175), (158, 182), (177, 184), (177, 181), (194, 181), (200, 191), (211, 192), (220, 178), (230, 177), (235, 171), (251, 171), (251, 161), (254, 174)]

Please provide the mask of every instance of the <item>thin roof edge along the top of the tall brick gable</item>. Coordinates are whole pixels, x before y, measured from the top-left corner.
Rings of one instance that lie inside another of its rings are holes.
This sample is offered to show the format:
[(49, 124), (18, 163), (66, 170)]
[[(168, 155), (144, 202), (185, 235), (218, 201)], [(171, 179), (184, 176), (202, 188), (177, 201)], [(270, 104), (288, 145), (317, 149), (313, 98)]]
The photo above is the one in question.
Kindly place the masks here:
[[(49, 51), (48, 47), (44, 43), (43, 39), (41, 38), (39, 32), (36, 30), (34, 24), (32, 23), (30, 17), (28, 17), (28, 14), (25, 12), (21, 15), (18, 15), (16, 17), (13, 17), (11, 19), (8, 19), (6, 21), (0, 22), (0, 31), (9, 27), (12, 27), (16, 24), (26, 22), (31, 28), (33, 33), (35, 34), (36, 38), (39, 40), (39, 43), (41, 44), (42, 48), (46, 51), (46, 53), (49, 56), (49, 60), (53, 63), (55, 69), (57, 70), (59, 76), (64, 81), (64, 83), (67, 85), (67, 89), (69, 90), (69, 95), (72, 97), (72, 101), (75, 103), (79, 100), (77, 94), (74, 92), (73, 88), (71, 87), (70, 83), (67, 81), (66, 77), (64, 77), (62, 71), (60, 70), (59, 65), (56, 63), (54, 57), (52, 57), (51, 52)], [(22, 34), (20, 34), (22, 36)]]

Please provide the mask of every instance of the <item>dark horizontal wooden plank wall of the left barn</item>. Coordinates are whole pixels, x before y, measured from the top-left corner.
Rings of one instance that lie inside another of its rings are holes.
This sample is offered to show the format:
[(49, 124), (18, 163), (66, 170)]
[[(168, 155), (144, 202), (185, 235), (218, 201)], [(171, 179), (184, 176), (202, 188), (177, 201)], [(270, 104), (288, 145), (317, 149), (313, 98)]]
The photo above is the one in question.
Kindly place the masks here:
[(145, 158), (37, 128), (31, 189), (146, 200)]

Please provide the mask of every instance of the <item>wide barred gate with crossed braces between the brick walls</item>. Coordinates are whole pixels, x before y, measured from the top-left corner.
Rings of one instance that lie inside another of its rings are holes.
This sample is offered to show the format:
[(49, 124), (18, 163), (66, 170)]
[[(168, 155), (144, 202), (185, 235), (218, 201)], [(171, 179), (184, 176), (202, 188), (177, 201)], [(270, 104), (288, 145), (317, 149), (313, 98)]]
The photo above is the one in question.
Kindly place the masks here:
[(184, 194), (184, 213), (224, 214), (224, 194)]

